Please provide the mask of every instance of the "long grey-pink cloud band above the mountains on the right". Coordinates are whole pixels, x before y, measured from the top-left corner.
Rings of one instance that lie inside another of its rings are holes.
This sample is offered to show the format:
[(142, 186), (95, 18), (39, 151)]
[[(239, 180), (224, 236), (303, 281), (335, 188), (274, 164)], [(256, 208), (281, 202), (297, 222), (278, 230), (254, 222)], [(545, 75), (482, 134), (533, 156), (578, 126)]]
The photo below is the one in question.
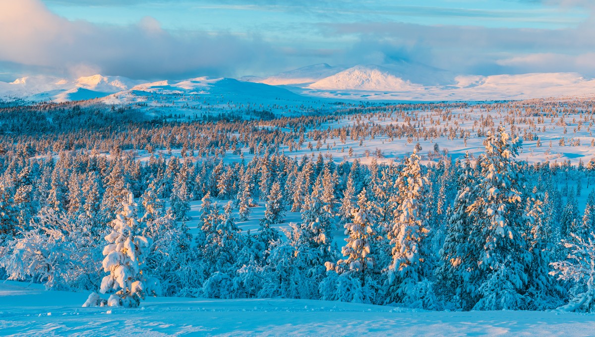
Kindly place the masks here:
[[(595, 75), (595, 27), (571, 29), (424, 26), (410, 23), (321, 24), (327, 37), (359, 40), (346, 57), (401, 58), (456, 73), (491, 75), (574, 71)], [(555, 55), (555, 56), (554, 56)]]

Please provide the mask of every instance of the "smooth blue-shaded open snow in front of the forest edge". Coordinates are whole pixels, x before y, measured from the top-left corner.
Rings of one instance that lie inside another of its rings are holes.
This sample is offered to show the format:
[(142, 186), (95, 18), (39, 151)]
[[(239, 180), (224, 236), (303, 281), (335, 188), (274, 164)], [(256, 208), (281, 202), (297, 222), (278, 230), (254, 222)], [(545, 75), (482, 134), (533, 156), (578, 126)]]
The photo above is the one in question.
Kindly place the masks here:
[(0, 283), (2, 335), (589, 336), (595, 316), (556, 312), (414, 311), (311, 300), (148, 298), (139, 309), (82, 308), (87, 292)]

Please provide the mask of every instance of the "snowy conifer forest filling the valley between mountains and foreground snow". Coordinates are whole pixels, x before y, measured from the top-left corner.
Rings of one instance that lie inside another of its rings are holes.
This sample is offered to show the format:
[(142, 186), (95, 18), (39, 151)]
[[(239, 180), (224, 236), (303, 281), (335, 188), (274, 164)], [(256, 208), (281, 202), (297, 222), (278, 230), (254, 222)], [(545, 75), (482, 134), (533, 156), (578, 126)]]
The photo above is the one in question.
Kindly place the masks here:
[(87, 306), (591, 312), (595, 159), (556, 153), (593, 147), (592, 103), (303, 116), (4, 104), (0, 278), (87, 291)]

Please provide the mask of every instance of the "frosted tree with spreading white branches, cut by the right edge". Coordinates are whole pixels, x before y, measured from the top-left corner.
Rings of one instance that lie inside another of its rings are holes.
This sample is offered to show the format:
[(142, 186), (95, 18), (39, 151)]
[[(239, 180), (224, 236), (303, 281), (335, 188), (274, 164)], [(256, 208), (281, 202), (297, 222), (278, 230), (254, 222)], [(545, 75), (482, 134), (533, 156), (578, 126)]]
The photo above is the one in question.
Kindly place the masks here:
[(595, 233), (588, 238), (570, 234), (572, 241), (562, 240), (570, 251), (568, 260), (552, 263), (559, 279), (574, 283), (570, 289), (568, 304), (559, 307), (563, 311), (595, 312)]

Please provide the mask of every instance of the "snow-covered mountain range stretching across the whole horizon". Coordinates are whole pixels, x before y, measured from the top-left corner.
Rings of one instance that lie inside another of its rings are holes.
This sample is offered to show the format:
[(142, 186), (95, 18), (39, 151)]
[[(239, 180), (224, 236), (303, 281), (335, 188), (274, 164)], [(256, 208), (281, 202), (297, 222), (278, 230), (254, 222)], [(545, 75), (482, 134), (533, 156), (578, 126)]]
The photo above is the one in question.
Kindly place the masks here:
[(0, 98), (5, 100), (100, 99), (123, 103), (121, 97), (134, 95), (192, 93), (245, 99), (283, 96), (289, 100), (299, 100), (300, 96), (345, 100), (506, 100), (593, 95), (595, 81), (577, 73), (454, 74), (405, 61), (353, 67), (316, 64), (268, 77), (246, 76), (237, 80), (197, 77), (143, 81), (103, 75), (74, 79), (35, 75), (10, 83), (0, 81)]

